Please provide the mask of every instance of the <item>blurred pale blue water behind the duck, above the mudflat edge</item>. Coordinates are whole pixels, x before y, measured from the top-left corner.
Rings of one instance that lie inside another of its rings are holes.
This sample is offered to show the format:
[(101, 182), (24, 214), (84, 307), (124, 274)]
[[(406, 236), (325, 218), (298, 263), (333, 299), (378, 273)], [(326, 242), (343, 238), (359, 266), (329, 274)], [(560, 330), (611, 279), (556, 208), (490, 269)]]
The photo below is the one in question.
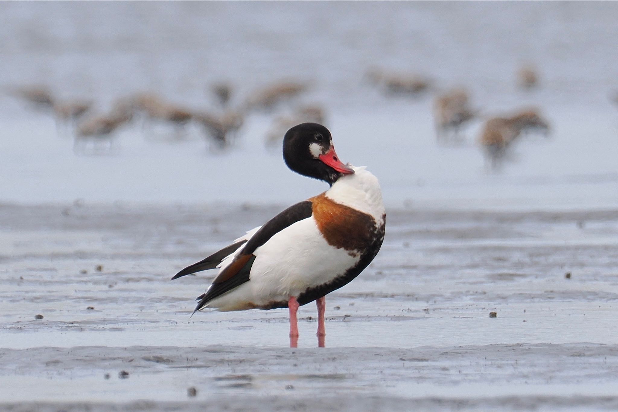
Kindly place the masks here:
[[(157, 93), (210, 109), (208, 87), (233, 104), (282, 79), (307, 82), (344, 161), (380, 179), (389, 206), (589, 208), (618, 204), (616, 2), (1, 2), (0, 86), (46, 85), (61, 99)], [(515, 74), (532, 64), (535, 90)], [(415, 73), (435, 89), (392, 98), (371, 67)], [(475, 143), (436, 145), (431, 103), (465, 86), (486, 116), (535, 105), (549, 140), (525, 141), (499, 172)], [(279, 109), (285, 112), (286, 107)], [(213, 154), (199, 128), (148, 140), (138, 124), (116, 151), (75, 155), (49, 114), (0, 95), (0, 201), (285, 204), (324, 185), (290, 173), (263, 140), (276, 116), (250, 114), (234, 148)]]

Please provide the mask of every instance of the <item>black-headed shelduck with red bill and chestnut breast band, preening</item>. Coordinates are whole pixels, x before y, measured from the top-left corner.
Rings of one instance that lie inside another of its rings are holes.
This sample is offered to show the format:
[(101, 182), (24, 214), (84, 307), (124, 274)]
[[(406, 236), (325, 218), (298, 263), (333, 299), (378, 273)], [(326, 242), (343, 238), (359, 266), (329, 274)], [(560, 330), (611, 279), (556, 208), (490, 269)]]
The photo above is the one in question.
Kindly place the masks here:
[(294, 204), (231, 245), (185, 267), (172, 280), (219, 269), (193, 311), (288, 308), (290, 347), (298, 344), (298, 307), (316, 302), (318, 347), (324, 347), (325, 296), (351, 282), (384, 240), (386, 212), (378, 179), (344, 164), (328, 128), (303, 123), (283, 140), (283, 158), (297, 174), (330, 188)]

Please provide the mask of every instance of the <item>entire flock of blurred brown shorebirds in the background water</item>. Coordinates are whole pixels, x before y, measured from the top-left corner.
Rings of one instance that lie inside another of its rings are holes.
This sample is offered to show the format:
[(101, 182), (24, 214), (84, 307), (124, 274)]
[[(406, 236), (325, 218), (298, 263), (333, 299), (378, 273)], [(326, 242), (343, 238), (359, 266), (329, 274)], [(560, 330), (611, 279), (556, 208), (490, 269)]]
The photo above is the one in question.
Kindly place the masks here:
[[(432, 90), (431, 81), (420, 75), (387, 73), (381, 69), (368, 70), (368, 83), (379, 88), (388, 96), (421, 96)], [(517, 72), (517, 82), (524, 90), (538, 87), (538, 75), (534, 67), (527, 65)], [(265, 86), (248, 96), (237, 107), (232, 107), (234, 87), (229, 83), (217, 83), (210, 87), (210, 93), (217, 102), (217, 111), (195, 111), (165, 101), (153, 93), (117, 99), (107, 114), (93, 114), (92, 101), (63, 101), (54, 98), (44, 86), (14, 88), (11, 94), (27, 101), (38, 109), (52, 112), (57, 125), (69, 126), (74, 137), (74, 149), (83, 152), (89, 142), (96, 146), (100, 142), (111, 149), (114, 135), (124, 125), (142, 119), (142, 127), (156, 123), (171, 125), (174, 135), (180, 137), (185, 127), (193, 123), (201, 126), (211, 149), (226, 149), (234, 145), (245, 117), (253, 111), (274, 113), (282, 103), (290, 103), (308, 90), (306, 83), (277, 82)], [(611, 96), (618, 104), (618, 93)], [(303, 122), (325, 122), (325, 111), (319, 104), (295, 105), (287, 114), (273, 118), (265, 136), (267, 147), (278, 147), (286, 131)], [(542, 133), (548, 135), (550, 125), (536, 107), (522, 107), (506, 116), (489, 117), (475, 109), (470, 93), (465, 88), (437, 92), (433, 98), (433, 117), (436, 139), (440, 144), (452, 144), (464, 140), (461, 131), (473, 119), (484, 121), (478, 137), (486, 164), (493, 169), (512, 151), (514, 143), (523, 135)]]

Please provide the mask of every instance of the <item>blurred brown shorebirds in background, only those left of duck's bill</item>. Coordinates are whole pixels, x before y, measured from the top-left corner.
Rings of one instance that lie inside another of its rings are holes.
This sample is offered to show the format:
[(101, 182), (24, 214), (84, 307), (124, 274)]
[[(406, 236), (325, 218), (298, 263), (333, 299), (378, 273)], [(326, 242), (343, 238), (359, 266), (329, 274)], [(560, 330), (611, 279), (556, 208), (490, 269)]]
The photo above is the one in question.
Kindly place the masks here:
[[(174, 138), (185, 135), (188, 124), (201, 126), (211, 149), (226, 149), (233, 145), (245, 117), (253, 111), (274, 112), (281, 103), (290, 101), (307, 90), (307, 85), (296, 82), (277, 82), (253, 93), (239, 107), (231, 106), (234, 88), (227, 83), (217, 83), (210, 88), (219, 109), (196, 111), (170, 103), (155, 93), (137, 93), (117, 99), (106, 114), (93, 113), (93, 101), (64, 101), (54, 97), (46, 86), (23, 86), (12, 88), (9, 93), (26, 101), (38, 111), (50, 112), (60, 128), (70, 127), (74, 137), (74, 149), (83, 153), (90, 144), (96, 148), (104, 143), (111, 150), (112, 140), (122, 127), (136, 121), (142, 122), (146, 133), (158, 124), (171, 125)], [(294, 107), (291, 114), (278, 116), (266, 135), (267, 146), (283, 140), (288, 128), (302, 122), (324, 122), (324, 111), (318, 105)], [(285, 130), (283, 130), (285, 129)]]

